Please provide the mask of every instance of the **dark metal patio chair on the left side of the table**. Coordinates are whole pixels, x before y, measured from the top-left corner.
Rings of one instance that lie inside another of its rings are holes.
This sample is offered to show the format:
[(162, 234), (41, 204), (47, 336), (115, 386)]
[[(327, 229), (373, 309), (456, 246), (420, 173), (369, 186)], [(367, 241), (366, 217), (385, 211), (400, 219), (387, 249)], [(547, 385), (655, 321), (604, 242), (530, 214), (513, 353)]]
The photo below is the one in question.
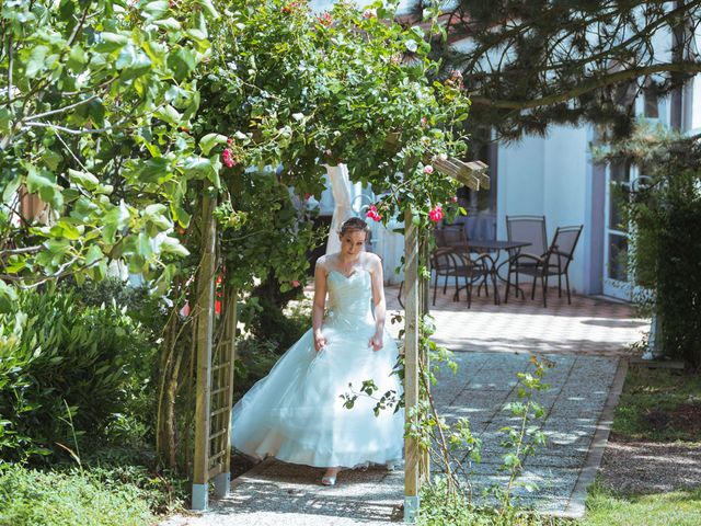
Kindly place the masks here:
[(485, 295), (490, 296), (489, 282), (494, 287), (494, 302), (498, 304), (494, 260), (490, 254), (474, 254), (470, 250), (463, 225), (445, 225), (435, 230), (436, 249), (432, 253), (432, 267), (435, 274), (434, 300), (436, 305), (436, 291), (438, 278), (445, 277), (443, 293), (446, 294), (448, 279), (455, 279), (455, 299), (460, 300), (459, 278), (464, 278), (464, 288), (468, 295), (468, 308), (472, 305), (472, 287), (478, 285), (478, 296), (482, 287)]

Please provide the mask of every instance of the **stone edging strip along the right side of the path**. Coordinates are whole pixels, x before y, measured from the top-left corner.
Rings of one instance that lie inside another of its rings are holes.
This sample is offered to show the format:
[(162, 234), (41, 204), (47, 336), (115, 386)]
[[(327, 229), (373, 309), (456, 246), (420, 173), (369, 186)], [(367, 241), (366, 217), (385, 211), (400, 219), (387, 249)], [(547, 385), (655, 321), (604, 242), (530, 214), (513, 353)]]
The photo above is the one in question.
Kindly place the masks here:
[(601, 458), (604, 457), (604, 450), (609, 442), (609, 435), (611, 434), (611, 426), (613, 424), (613, 413), (616, 407), (621, 398), (623, 391), (623, 384), (625, 384), (625, 376), (628, 374), (628, 358), (620, 358), (613, 382), (609, 396), (601, 411), (601, 416), (596, 426), (591, 445), (589, 446), (589, 453), (584, 462), (584, 467), (579, 472), (577, 482), (572, 490), (570, 496), (570, 503), (564, 513), (555, 513), (553, 515), (561, 517), (582, 518), (585, 513), (585, 501), (587, 499), (587, 492), (589, 485), (594, 482), (599, 466), (601, 465)]

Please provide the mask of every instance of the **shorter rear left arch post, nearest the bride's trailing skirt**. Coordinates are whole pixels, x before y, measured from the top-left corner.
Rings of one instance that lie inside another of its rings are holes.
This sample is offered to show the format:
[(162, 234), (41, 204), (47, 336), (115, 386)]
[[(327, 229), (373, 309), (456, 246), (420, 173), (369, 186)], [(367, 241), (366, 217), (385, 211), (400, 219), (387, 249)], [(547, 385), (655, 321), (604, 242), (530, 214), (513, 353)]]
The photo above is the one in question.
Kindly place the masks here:
[[(217, 496), (227, 496), (231, 488), (231, 405), (233, 401), (233, 366), (237, 356), (237, 323), (239, 321), (237, 302), (239, 300), (239, 293), (234, 287), (228, 287), (225, 293), (226, 304), (226, 320), (223, 339), (227, 342), (223, 352), (228, 355), (228, 389), (226, 392), (225, 408), (227, 411), (223, 413), (225, 418), (225, 456), (223, 456), (223, 470), (221, 473), (215, 477), (215, 493)], [(226, 358), (225, 358), (226, 359)]]

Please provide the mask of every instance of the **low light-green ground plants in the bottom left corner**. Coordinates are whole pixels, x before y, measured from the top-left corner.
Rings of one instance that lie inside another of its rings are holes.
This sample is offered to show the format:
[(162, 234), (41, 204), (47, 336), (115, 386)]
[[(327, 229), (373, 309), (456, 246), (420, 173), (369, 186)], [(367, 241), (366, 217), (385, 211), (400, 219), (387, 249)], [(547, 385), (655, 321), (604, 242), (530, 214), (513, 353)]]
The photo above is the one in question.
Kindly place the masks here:
[(12, 526), (146, 526), (143, 492), (128, 482), (79, 473), (42, 472), (4, 465), (0, 524)]

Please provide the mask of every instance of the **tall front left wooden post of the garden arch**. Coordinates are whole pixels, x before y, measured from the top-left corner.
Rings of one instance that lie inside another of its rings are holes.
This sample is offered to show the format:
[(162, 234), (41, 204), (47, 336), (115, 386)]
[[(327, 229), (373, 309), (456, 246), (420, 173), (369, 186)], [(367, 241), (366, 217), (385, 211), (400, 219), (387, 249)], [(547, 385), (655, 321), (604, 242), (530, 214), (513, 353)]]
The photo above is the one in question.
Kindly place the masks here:
[(193, 467), (192, 508), (207, 510), (209, 482), (209, 405), (211, 392), (211, 355), (214, 333), (214, 296), (217, 225), (212, 215), (215, 202), (204, 197), (203, 256), (197, 279), (197, 384), (195, 402), (195, 457)]

